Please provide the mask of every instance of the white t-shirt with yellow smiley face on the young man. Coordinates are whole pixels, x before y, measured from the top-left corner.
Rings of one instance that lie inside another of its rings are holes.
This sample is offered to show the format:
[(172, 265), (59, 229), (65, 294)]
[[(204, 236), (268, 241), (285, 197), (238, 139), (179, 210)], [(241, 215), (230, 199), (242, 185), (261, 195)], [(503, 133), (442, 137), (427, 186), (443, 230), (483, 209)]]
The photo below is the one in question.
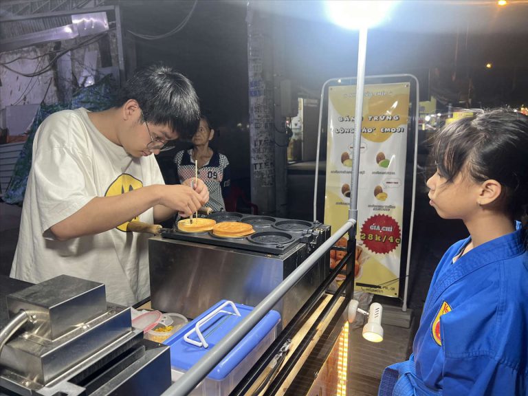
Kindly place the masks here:
[[(50, 231), (94, 197), (164, 184), (153, 155), (132, 157), (104, 137), (87, 113), (59, 111), (36, 132), (10, 275), (32, 283), (77, 276), (104, 283), (110, 302), (133, 305), (150, 295), (148, 235), (126, 232), (126, 223), (69, 241), (56, 240)], [(153, 209), (135, 219), (153, 223)]]

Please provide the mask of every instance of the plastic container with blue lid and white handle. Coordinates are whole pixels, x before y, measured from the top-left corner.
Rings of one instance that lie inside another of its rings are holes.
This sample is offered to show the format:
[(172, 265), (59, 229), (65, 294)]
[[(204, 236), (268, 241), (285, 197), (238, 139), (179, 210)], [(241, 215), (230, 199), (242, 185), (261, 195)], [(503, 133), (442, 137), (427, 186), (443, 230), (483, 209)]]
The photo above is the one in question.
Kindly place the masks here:
[[(164, 341), (164, 344), (170, 347), (170, 365), (173, 370), (173, 380), (177, 380), (198, 362), (198, 360), (207, 355), (214, 348), (214, 345), (234, 329), (253, 310), (253, 307), (249, 307), (248, 305), (235, 304), (241, 314), (241, 316), (236, 316), (230, 314), (233, 312), (233, 309), (227, 306), (223, 308), (223, 311), (230, 313), (219, 313), (206, 322), (206, 324), (202, 325), (201, 333), (208, 343), (208, 348), (197, 347), (184, 340), (185, 334), (194, 329), (199, 320), (206, 317), (225, 302), (226, 300), (221, 300)], [(206, 379), (195, 388), (191, 395), (229, 395), (275, 340), (276, 327), (280, 321), (281, 316), (277, 311), (268, 312), (241, 342), (212, 369)], [(195, 332), (189, 338), (200, 342)]]

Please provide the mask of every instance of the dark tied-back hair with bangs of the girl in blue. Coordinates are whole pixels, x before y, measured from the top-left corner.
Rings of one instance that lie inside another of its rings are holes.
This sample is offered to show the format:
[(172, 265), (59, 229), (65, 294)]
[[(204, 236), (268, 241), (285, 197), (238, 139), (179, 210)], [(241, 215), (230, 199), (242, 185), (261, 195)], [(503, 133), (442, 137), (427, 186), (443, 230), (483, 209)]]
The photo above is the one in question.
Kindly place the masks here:
[(471, 111), (437, 133), (432, 157), (439, 175), (452, 182), (467, 165), (477, 183), (498, 181), (509, 214), (520, 219), (528, 205), (528, 116), (508, 109)]

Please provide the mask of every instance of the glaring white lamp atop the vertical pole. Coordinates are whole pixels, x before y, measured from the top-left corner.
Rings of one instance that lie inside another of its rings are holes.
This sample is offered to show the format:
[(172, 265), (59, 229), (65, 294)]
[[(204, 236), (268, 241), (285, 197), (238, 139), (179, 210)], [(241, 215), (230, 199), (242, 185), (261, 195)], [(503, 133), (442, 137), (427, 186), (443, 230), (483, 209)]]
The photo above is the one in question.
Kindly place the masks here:
[(397, 1), (344, 1), (327, 0), (326, 8), (329, 19), (345, 29), (372, 28), (380, 25)]

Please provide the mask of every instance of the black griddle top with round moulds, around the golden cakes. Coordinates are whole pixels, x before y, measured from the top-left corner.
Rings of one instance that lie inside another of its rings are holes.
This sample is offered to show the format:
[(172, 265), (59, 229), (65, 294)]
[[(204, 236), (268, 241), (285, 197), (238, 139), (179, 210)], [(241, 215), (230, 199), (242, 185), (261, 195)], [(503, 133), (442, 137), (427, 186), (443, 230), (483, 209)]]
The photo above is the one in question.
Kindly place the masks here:
[[(222, 216), (223, 215), (223, 216)], [(234, 216), (236, 220), (229, 219)], [(220, 217), (220, 219), (219, 219)], [(241, 221), (253, 226), (254, 234), (242, 236), (239, 238), (225, 238), (213, 235), (212, 232), (188, 233), (178, 230), (162, 230), (162, 236), (168, 239), (177, 239), (179, 241), (188, 241), (195, 243), (205, 243), (208, 245), (223, 246), (225, 248), (234, 248), (248, 250), (251, 252), (267, 254), (284, 254), (300, 243), (300, 238), (305, 230), (314, 228), (315, 224), (303, 220), (278, 219), (269, 216), (254, 216), (252, 214), (241, 214), (236, 212), (218, 212), (208, 216), (209, 219), (216, 221)], [(278, 223), (287, 223), (287, 226), (293, 230), (277, 230)], [(307, 227), (307, 225), (309, 225)]]

